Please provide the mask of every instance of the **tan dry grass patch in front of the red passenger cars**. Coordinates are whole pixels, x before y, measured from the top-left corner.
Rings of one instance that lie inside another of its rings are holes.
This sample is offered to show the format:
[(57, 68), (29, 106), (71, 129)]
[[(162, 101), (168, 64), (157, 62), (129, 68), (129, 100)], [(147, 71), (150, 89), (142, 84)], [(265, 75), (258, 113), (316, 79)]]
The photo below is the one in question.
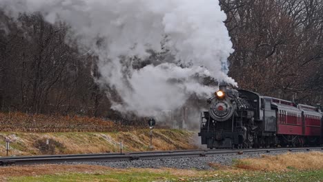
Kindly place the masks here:
[(235, 167), (260, 171), (318, 170), (323, 168), (323, 152), (264, 155), (260, 159), (241, 159)]

